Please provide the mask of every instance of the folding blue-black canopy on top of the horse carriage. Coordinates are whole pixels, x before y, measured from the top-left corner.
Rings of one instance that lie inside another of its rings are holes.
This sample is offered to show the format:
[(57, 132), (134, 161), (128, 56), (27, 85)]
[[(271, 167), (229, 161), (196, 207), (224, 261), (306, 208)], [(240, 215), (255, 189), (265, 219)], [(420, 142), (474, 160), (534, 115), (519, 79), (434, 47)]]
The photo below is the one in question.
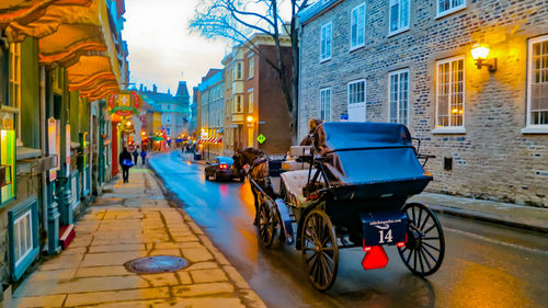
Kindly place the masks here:
[(315, 148), (331, 158), (326, 169), (341, 185), (407, 182), (401, 187), (378, 189), (400, 189), (411, 195), (432, 180), (416, 158), (411, 134), (401, 124), (324, 123), (315, 132)]

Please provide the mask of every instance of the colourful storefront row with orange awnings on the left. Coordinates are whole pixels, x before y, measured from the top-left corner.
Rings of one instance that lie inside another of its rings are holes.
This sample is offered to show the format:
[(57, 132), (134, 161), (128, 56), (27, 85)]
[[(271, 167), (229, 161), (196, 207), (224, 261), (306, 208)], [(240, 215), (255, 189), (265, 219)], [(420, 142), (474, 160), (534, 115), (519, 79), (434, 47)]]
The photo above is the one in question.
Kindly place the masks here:
[[(71, 225), (92, 194), (101, 194), (113, 172), (115, 135), (105, 98), (127, 81), (123, 0), (50, 1), (28, 10), (37, 2), (0, 3), (4, 293), (44, 252), (56, 254), (68, 246)], [(26, 24), (21, 27), (18, 16), (23, 13)], [(111, 23), (100, 22), (109, 19)]]

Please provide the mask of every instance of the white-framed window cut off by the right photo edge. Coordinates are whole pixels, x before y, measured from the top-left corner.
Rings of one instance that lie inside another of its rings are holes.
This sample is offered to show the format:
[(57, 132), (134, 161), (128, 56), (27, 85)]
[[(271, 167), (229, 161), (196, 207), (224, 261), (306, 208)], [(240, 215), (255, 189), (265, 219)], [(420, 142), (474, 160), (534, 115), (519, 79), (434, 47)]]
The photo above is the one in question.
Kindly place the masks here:
[(527, 126), (548, 128), (548, 35), (529, 39), (528, 47)]

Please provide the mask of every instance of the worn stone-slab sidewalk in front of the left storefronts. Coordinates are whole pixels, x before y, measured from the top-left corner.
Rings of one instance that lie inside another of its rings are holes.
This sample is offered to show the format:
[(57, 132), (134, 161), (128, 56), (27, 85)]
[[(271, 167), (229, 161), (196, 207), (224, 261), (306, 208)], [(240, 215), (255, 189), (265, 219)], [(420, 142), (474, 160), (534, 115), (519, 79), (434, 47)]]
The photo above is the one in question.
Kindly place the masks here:
[[(106, 189), (109, 191), (109, 187)], [(79, 220), (69, 248), (45, 261), (13, 294), (13, 307), (265, 307), (248, 283), (148, 169), (133, 168)], [(190, 266), (138, 275), (123, 264), (178, 255)]]

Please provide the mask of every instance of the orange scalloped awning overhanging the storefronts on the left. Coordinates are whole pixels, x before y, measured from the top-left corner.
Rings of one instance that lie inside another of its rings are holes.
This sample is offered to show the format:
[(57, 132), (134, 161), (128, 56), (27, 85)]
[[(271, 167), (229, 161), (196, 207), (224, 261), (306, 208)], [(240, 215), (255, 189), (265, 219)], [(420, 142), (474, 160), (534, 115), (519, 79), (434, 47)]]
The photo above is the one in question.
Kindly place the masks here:
[[(39, 38), (42, 65), (68, 67), (69, 89), (89, 100), (119, 91), (115, 31), (105, 0), (10, 0), (0, 4), (0, 28), (10, 42)], [(119, 47), (119, 46), (118, 46)]]

